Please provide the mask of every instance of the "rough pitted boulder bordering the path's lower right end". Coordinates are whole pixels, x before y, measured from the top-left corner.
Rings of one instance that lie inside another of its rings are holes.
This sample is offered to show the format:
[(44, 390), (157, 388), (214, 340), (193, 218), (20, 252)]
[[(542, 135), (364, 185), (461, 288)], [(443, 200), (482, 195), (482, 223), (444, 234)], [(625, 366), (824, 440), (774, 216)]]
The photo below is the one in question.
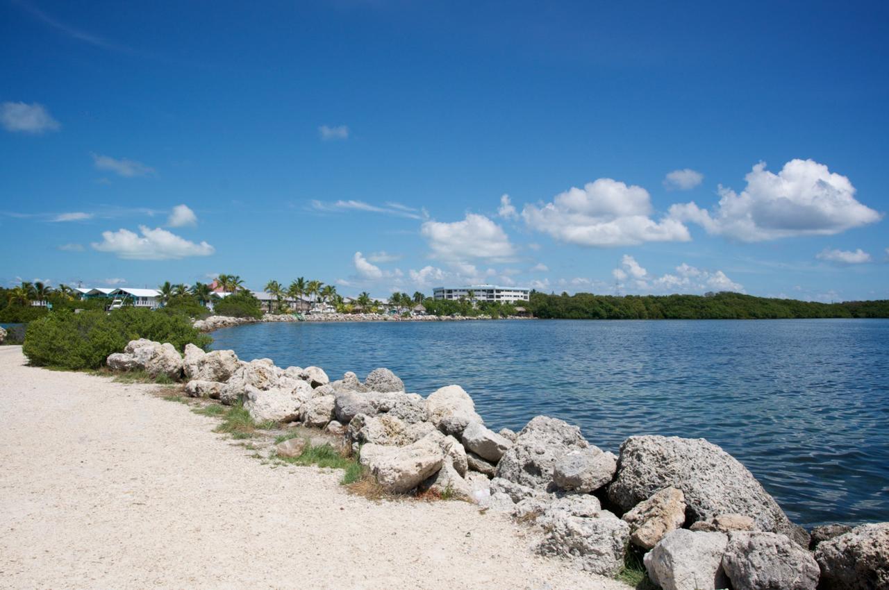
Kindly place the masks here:
[(566, 557), (582, 570), (603, 576), (614, 576), (623, 568), (629, 524), (614, 514), (601, 510), (574, 516), (553, 511), (545, 513), (541, 521), (543, 538), (535, 547), (538, 553)]

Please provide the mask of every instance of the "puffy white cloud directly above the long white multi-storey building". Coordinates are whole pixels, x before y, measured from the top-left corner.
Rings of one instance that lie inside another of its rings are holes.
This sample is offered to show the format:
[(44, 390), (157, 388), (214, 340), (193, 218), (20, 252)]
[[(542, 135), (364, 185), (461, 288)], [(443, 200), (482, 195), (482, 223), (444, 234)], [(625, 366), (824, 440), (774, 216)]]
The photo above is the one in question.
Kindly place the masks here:
[(434, 256), (444, 260), (509, 259), (515, 248), (503, 228), (477, 213), (466, 219), (444, 223), (427, 221), (420, 227)]

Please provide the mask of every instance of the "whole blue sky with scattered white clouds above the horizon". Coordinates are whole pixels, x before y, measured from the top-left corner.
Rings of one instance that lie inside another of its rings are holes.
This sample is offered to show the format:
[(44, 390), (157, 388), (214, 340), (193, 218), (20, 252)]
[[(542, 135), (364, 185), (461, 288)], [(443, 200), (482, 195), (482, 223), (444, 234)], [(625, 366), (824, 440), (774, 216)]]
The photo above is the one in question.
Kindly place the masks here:
[(0, 0), (0, 284), (889, 299), (889, 4)]

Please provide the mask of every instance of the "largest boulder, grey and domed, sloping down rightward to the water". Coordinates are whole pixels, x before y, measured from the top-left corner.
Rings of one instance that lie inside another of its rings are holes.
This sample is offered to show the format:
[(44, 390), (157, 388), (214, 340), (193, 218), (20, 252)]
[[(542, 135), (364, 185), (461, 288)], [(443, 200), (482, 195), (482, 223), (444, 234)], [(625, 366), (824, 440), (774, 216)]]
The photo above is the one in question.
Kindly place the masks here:
[(774, 498), (747, 468), (704, 439), (631, 436), (621, 445), (620, 469), (608, 497), (629, 510), (672, 486), (682, 490), (692, 521), (717, 514), (743, 514), (757, 529), (779, 532), (808, 546), (808, 534), (789, 521)]

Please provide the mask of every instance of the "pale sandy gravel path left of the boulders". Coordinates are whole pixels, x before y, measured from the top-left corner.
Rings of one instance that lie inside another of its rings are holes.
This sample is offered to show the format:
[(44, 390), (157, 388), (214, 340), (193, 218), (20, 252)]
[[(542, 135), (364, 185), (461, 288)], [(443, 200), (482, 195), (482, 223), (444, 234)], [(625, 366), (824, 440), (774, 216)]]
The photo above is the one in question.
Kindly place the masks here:
[(0, 347), (0, 587), (627, 588), (462, 502), (371, 502), (263, 466), (150, 387)]

